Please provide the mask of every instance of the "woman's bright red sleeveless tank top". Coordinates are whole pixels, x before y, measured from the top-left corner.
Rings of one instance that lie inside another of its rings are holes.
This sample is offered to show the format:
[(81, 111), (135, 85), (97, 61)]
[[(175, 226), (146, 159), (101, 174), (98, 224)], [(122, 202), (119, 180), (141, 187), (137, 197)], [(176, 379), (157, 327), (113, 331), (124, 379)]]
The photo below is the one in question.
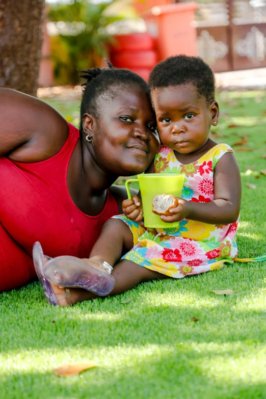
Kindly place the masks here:
[(19, 163), (0, 158), (0, 222), (30, 255), (39, 241), (52, 257), (88, 257), (104, 222), (118, 214), (109, 190), (97, 216), (84, 214), (72, 201), (67, 170), (78, 139), (78, 129), (69, 124), (63, 148), (46, 161)]

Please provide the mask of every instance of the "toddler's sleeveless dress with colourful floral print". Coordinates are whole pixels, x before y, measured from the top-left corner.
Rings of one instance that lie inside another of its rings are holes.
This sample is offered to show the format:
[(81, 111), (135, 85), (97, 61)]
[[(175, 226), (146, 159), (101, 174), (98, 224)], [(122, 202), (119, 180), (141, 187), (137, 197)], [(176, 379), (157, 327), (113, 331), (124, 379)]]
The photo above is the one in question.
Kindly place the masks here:
[[(182, 198), (194, 202), (213, 201), (215, 166), (226, 152), (233, 150), (227, 144), (217, 144), (198, 161), (182, 165), (174, 152), (163, 146), (155, 157), (154, 173), (185, 173)], [(150, 229), (124, 215), (114, 218), (123, 220), (134, 237), (134, 247), (123, 259), (170, 277), (182, 278), (220, 269), (237, 256), (238, 220), (228, 225), (212, 225), (184, 219), (178, 227)]]

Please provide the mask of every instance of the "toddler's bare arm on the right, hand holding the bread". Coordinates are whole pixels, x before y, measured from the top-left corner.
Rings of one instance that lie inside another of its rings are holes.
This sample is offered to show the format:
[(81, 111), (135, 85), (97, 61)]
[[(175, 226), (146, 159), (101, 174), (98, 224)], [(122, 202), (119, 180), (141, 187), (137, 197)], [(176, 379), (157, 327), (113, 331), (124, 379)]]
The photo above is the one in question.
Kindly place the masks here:
[(225, 225), (233, 223), (240, 214), (241, 175), (235, 156), (227, 152), (214, 171), (214, 201), (200, 203), (178, 198), (173, 216), (161, 217), (165, 222), (184, 218), (203, 223)]

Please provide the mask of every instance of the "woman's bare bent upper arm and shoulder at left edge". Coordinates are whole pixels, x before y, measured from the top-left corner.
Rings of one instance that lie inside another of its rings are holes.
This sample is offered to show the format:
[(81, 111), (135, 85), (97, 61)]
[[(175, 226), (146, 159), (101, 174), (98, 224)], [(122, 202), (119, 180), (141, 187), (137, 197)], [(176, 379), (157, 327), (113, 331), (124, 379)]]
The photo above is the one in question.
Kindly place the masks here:
[(39, 162), (55, 155), (69, 134), (66, 120), (38, 98), (0, 88), (0, 156)]

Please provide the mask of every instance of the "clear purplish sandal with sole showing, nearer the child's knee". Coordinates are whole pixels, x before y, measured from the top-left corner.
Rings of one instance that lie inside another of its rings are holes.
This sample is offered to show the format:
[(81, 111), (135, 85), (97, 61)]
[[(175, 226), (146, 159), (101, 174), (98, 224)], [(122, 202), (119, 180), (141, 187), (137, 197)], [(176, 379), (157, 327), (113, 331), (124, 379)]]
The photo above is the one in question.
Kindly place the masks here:
[(61, 287), (87, 289), (100, 297), (110, 294), (115, 285), (111, 276), (112, 266), (107, 262), (89, 260), (98, 267), (74, 256), (58, 256), (45, 263), (44, 278)]

